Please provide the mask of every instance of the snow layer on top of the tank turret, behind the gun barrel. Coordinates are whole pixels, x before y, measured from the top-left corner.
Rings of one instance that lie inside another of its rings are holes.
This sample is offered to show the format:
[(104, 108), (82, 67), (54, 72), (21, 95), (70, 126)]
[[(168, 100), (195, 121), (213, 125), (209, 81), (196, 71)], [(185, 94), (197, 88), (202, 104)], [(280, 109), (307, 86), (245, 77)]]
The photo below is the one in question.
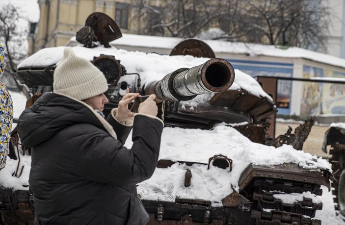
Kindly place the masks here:
[[(20, 63), (18, 68), (54, 65), (62, 58), (64, 48), (56, 47), (39, 50)], [(140, 75), (142, 85), (160, 80), (177, 69), (192, 68), (209, 60), (209, 58), (197, 58), (190, 55), (169, 56), (103, 47), (88, 49), (78, 46), (73, 47), (73, 50), (78, 56), (89, 61), (92, 61), (94, 56), (100, 56), (100, 54), (115, 56), (116, 59), (121, 60), (121, 64), (126, 67), (128, 73), (138, 73)], [(235, 70), (235, 81), (230, 89), (238, 90), (240, 88), (253, 95), (272, 100), (253, 77)]]

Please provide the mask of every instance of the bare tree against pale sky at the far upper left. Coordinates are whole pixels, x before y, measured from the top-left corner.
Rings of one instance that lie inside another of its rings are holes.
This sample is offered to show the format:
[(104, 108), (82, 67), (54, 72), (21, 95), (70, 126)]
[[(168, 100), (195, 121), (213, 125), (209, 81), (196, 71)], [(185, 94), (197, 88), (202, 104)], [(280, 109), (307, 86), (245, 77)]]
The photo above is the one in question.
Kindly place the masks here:
[(26, 20), (15, 6), (7, 4), (0, 8), (0, 43), (5, 47), (6, 70), (11, 74), (27, 56), (27, 30), (21, 27), (21, 22)]

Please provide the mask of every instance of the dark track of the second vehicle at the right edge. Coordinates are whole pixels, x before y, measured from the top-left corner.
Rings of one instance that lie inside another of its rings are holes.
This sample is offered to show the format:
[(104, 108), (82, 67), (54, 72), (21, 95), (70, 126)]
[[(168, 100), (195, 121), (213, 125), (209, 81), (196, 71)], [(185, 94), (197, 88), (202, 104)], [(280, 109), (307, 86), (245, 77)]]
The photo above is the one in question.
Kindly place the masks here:
[(345, 170), (345, 144), (332, 144), (329, 153), (332, 155), (330, 163), (332, 164), (333, 175), (337, 180), (336, 182), (331, 183), (334, 209), (336, 210), (337, 214), (340, 214), (338, 207), (338, 181), (342, 171)]

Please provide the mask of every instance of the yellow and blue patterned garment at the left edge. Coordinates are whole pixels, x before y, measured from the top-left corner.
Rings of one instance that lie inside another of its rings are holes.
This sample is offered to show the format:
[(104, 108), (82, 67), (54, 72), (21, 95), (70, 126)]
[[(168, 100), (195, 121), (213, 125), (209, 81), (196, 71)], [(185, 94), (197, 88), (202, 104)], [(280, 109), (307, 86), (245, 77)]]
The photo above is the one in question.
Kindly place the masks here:
[[(0, 45), (0, 77), (4, 71), (4, 50)], [(13, 122), (13, 102), (6, 86), (0, 81), (0, 170), (5, 167)]]

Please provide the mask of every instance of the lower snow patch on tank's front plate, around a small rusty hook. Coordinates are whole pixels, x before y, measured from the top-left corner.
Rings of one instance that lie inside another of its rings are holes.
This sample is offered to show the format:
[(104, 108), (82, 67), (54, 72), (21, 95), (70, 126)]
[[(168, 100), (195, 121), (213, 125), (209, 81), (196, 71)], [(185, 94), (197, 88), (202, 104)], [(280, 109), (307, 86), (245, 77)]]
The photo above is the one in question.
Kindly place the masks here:
[[(192, 173), (189, 187), (184, 185), (186, 169)], [(230, 186), (232, 175), (229, 170), (216, 167), (207, 170), (206, 165), (175, 163), (168, 168), (156, 168), (149, 180), (138, 184), (137, 191), (145, 200), (202, 199), (211, 200), (213, 206), (222, 206), (221, 200), (233, 192)]]

